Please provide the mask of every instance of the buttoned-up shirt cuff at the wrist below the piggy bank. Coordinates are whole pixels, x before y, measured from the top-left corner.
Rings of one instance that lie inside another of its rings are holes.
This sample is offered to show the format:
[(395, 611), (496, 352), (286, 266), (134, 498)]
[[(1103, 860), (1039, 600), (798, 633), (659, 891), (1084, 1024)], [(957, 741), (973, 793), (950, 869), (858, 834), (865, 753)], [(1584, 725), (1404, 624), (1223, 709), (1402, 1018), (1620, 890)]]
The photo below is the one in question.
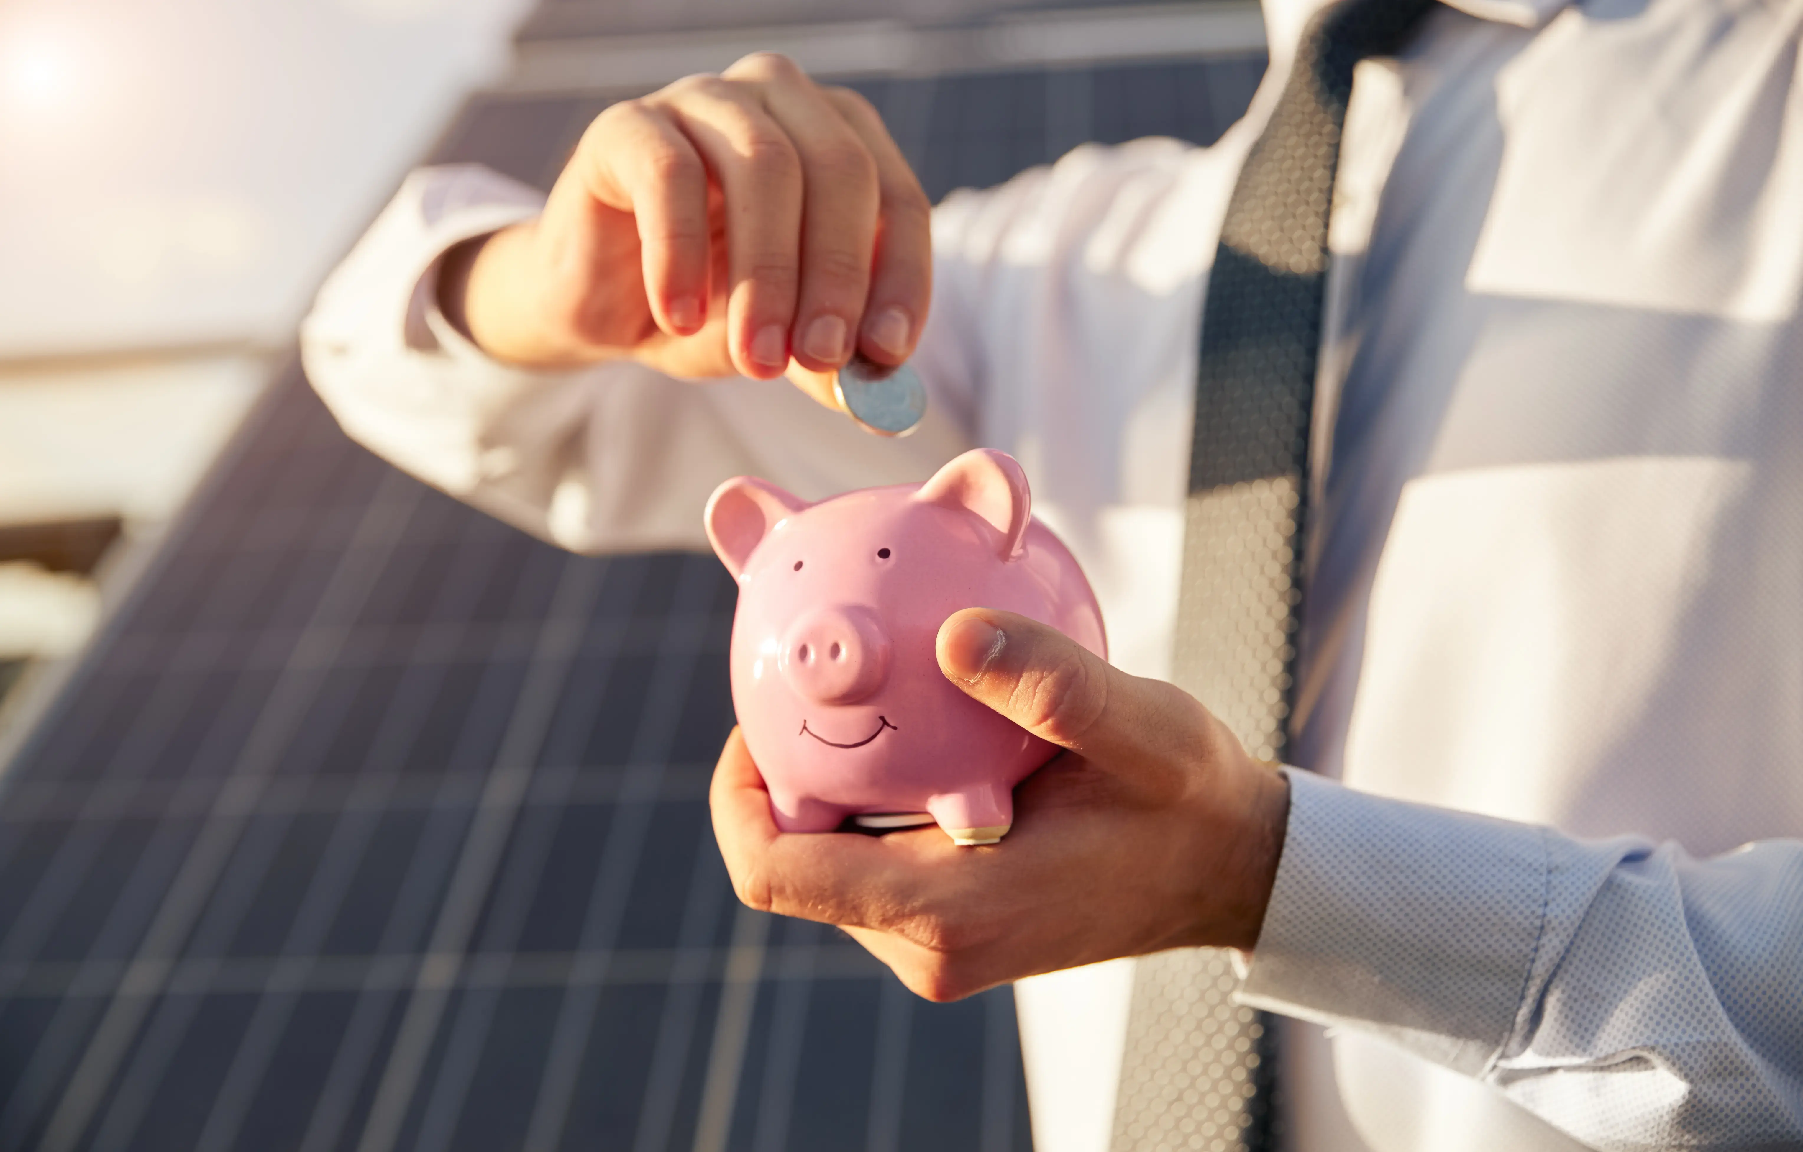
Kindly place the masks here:
[(1543, 829), (1286, 775), (1284, 856), (1239, 999), (1482, 1074), (1545, 925)]

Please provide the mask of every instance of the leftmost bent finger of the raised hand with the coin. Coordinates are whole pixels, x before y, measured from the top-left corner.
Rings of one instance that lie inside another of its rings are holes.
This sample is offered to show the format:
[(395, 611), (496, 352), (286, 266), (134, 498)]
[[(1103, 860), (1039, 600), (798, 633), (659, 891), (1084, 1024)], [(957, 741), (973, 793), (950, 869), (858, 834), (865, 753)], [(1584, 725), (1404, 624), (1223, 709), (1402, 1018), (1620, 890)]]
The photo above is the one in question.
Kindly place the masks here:
[(595, 119), (570, 168), (604, 207), (638, 229), (645, 303), (658, 328), (692, 335), (707, 323), (707, 168), (662, 110), (622, 101)]

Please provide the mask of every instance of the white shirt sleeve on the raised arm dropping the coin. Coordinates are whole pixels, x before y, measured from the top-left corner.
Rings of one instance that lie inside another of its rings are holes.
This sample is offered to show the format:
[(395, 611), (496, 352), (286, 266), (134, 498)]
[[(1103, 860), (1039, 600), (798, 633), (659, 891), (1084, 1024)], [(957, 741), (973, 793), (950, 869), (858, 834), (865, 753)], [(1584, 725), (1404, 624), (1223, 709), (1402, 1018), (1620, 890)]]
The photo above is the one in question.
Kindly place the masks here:
[[(925, 480), (970, 447), (963, 397), (932, 397), (914, 434), (882, 440), (781, 379), (683, 382), (633, 362), (528, 371), (489, 359), (438, 310), (438, 261), (541, 206), (541, 193), (481, 166), (407, 177), (301, 328), (307, 375), (353, 440), (577, 552), (705, 548), (701, 507), (728, 476), (819, 499)], [(929, 355), (970, 388), (957, 348)]]

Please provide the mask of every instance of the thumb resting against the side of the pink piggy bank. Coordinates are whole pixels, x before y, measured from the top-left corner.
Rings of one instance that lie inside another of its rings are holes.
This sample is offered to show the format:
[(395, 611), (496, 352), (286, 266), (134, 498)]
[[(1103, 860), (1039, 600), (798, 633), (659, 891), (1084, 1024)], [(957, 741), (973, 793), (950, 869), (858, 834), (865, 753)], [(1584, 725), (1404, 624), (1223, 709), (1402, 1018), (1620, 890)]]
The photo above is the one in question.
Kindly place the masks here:
[(1033, 736), (1094, 761), (1145, 748), (1145, 685), (1037, 620), (966, 608), (939, 626), (939, 671)]

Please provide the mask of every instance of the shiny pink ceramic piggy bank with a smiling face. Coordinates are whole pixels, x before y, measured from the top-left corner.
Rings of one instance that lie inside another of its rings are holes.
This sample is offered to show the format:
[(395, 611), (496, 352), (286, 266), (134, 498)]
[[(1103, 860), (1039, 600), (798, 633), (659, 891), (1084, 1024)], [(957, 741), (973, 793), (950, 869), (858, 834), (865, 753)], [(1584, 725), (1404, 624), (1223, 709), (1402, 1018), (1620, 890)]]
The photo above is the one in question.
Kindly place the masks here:
[(995, 844), (1013, 786), (1057, 748), (965, 696), (934, 640), (961, 608), (1002, 608), (1107, 656), (1089, 581), (1033, 519), (1026, 474), (977, 449), (923, 485), (810, 505), (739, 476), (707, 501), (739, 581), (732, 703), (777, 827), (938, 822)]

